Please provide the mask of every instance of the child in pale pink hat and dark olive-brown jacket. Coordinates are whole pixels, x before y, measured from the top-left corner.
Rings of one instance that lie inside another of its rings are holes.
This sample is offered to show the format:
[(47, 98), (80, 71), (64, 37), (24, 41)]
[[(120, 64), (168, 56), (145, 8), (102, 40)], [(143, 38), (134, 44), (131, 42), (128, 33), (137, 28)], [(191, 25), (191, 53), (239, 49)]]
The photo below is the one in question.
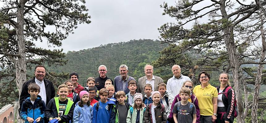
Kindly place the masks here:
[(164, 105), (160, 103), (161, 94), (159, 91), (152, 92), (152, 100), (153, 102), (146, 106), (145, 123), (166, 123), (167, 115)]

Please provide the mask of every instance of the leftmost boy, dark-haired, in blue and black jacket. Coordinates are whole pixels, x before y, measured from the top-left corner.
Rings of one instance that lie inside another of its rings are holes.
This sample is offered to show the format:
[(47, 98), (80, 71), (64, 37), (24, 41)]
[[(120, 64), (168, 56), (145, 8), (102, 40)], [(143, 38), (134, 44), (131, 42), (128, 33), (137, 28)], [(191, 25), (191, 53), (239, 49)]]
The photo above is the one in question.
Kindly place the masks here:
[(32, 123), (33, 121), (44, 123), (45, 103), (41, 100), (41, 96), (38, 95), (40, 86), (35, 83), (30, 84), (28, 93), (30, 95), (25, 97), (19, 116), (25, 120), (25, 123)]

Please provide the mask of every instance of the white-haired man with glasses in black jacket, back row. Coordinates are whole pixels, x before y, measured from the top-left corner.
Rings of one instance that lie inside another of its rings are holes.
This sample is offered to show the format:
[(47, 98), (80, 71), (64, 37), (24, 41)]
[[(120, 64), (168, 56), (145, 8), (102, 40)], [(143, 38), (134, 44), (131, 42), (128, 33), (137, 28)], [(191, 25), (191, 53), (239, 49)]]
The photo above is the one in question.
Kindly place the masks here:
[[(95, 86), (98, 88), (98, 90), (101, 90), (101, 88), (104, 88), (105, 81), (110, 78), (106, 76), (107, 68), (105, 65), (100, 65), (98, 67), (98, 71), (99, 71), (99, 77), (95, 78)], [(112, 84), (114, 84), (113, 80), (111, 81)]]

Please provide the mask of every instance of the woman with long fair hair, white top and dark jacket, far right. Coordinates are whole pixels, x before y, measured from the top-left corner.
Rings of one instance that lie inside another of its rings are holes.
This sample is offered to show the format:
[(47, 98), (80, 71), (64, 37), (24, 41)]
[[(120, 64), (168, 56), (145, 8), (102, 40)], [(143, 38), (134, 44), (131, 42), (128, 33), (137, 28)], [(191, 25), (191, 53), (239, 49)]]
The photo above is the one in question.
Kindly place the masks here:
[[(221, 73), (219, 75), (220, 86), (217, 86), (218, 93), (218, 116), (217, 123), (233, 123), (234, 122), (234, 100), (235, 93), (231, 88), (227, 91), (227, 96), (225, 96), (226, 88), (230, 87), (229, 76), (227, 73)], [(232, 96), (233, 94), (233, 96)], [(231, 110), (231, 112), (230, 112)]]

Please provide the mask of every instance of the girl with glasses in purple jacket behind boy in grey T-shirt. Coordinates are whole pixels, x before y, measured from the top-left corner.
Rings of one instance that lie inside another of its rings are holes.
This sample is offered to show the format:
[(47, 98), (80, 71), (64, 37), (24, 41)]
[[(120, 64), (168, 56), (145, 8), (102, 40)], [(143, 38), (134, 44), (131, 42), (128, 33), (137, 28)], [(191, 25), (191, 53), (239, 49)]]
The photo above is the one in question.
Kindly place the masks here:
[[(193, 103), (193, 104), (195, 105), (195, 107), (196, 107), (196, 112), (197, 112), (197, 113), (196, 113), (196, 116), (197, 116), (197, 121), (196, 121), (196, 123), (200, 123), (200, 121), (199, 121), (200, 114), (199, 114), (198, 99), (196, 98), (196, 96), (195, 96), (195, 94), (194, 94), (194, 92), (193, 92), (193, 88), (194, 88), (194, 86), (193, 86), (193, 82), (187, 80), (187, 81), (185, 81), (185, 82), (183, 83), (183, 86), (182, 86), (182, 87), (186, 87), (186, 88), (189, 88), (189, 89), (190, 89), (190, 91), (191, 91), (191, 92), (190, 92), (190, 93), (191, 93), (191, 97), (188, 98), (188, 101), (191, 102), (191, 103)], [(177, 102), (180, 101), (180, 100), (181, 100), (181, 98), (180, 98), (179, 94), (176, 95), (175, 98), (174, 98), (173, 104), (177, 103)], [(174, 105), (172, 105), (172, 107), (171, 107), (171, 112), (170, 112), (170, 115), (169, 115), (169, 121), (172, 121), (172, 122), (174, 122), (173, 113), (172, 113), (172, 109), (173, 109), (173, 107), (174, 107)]]

